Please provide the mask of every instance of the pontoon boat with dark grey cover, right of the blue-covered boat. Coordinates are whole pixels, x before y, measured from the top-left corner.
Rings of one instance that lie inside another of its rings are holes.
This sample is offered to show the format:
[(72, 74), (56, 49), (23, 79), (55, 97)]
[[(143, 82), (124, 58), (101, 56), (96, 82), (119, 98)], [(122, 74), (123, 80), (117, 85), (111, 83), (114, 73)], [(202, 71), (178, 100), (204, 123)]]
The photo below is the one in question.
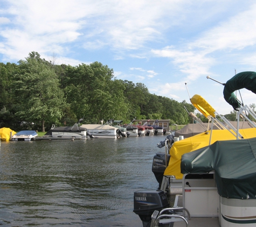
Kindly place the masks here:
[(51, 129), (46, 132), (44, 136), (37, 137), (36, 140), (81, 140), (87, 139), (87, 137), (93, 138), (91, 134), (87, 133), (87, 129), (85, 127), (80, 126), (80, 122), (82, 120), (82, 118), (79, 119), (79, 121), (72, 127), (56, 127), (55, 125), (52, 125)]

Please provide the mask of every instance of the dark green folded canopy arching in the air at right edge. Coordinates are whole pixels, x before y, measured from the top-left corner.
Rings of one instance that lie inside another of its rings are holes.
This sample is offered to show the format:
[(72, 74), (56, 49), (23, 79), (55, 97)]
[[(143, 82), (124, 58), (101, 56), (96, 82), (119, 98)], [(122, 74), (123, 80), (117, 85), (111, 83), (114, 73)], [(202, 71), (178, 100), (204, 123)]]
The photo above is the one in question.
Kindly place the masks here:
[(233, 76), (225, 84), (223, 95), (227, 103), (232, 105), (236, 110), (240, 107), (236, 95), (233, 93), (236, 90), (246, 88), (256, 94), (256, 73), (255, 72), (242, 72)]

